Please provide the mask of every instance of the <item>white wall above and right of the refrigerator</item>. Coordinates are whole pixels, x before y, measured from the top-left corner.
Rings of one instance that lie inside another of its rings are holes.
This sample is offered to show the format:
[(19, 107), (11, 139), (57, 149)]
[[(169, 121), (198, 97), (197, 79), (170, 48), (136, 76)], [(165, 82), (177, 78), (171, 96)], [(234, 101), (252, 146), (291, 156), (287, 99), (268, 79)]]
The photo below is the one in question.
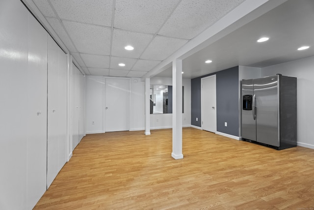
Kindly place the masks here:
[(297, 78), (298, 145), (314, 149), (314, 57), (262, 68), (262, 77), (275, 74)]

